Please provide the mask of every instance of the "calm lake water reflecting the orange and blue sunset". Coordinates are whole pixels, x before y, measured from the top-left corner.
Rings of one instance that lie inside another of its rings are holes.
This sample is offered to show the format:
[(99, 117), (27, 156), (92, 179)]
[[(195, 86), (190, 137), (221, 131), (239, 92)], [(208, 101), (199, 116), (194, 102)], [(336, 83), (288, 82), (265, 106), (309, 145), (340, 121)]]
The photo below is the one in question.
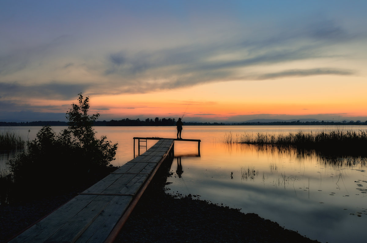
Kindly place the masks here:
[[(41, 127), (13, 127), (33, 139)], [(13, 129), (0, 127), (0, 129)], [(337, 127), (361, 129), (367, 126)], [(28, 129), (30, 133), (28, 134)], [(53, 127), (61, 131), (63, 127)], [(224, 144), (225, 134), (289, 133), (331, 130), (316, 126), (185, 126), (175, 142), (167, 185), (168, 193), (200, 195), (203, 200), (257, 213), (321, 242), (365, 242), (367, 224), (367, 173), (361, 158), (336, 158), (331, 163), (316, 155), (294, 150), (258, 149), (252, 145)], [(133, 158), (133, 137), (175, 137), (175, 127), (95, 127), (119, 143), (116, 160), (121, 166)], [(148, 147), (156, 141), (148, 141)], [(136, 146), (136, 145), (135, 145)], [(12, 157), (0, 157), (0, 167)], [(181, 166), (180, 166), (181, 162)], [(181, 168), (182, 167), (182, 168)], [(231, 176), (232, 173), (232, 176)]]

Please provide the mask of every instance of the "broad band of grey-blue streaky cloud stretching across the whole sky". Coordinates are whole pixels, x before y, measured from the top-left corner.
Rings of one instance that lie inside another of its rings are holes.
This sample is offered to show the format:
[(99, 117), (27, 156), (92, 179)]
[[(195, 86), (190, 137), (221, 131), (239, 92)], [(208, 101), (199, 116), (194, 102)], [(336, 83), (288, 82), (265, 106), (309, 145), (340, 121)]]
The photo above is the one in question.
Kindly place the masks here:
[[(205, 43), (186, 40), (168, 47), (152, 43), (155, 48), (149, 49), (114, 45), (111, 48), (115, 51), (106, 52), (106, 49), (95, 50), (92, 46), (95, 55), (74, 53), (77, 46), (73, 49), (69, 45), (75, 37), (59, 34), (49, 41), (0, 55), (0, 95), (66, 100), (79, 92), (87, 95), (136, 94), (219, 81), (357, 73), (336, 66), (312, 69), (296, 66), (279, 72), (269, 73), (264, 69), (260, 73), (241, 73), (260, 65), (345, 57), (337, 51), (331, 52), (330, 46), (363, 36), (349, 33), (337, 21), (306, 21), (301, 25), (295, 21), (278, 26), (276, 31), (269, 29), (263, 35), (256, 34), (256, 29), (252, 33), (232, 33)], [(84, 46), (80, 49), (84, 50)], [(86, 47), (86, 50), (89, 49)], [(55, 72), (50, 71), (52, 69)], [(32, 73), (27, 76), (29, 70)], [(11, 76), (18, 72), (22, 75)], [(37, 78), (46, 84), (36, 84)]]

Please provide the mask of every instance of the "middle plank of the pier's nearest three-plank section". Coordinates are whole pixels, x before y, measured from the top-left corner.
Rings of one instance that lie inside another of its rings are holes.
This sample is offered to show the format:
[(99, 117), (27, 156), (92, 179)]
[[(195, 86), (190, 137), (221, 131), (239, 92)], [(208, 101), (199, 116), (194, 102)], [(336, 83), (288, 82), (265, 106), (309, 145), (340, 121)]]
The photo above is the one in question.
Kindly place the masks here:
[(92, 224), (113, 197), (115, 196), (97, 196), (46, 242), (74, 242)]

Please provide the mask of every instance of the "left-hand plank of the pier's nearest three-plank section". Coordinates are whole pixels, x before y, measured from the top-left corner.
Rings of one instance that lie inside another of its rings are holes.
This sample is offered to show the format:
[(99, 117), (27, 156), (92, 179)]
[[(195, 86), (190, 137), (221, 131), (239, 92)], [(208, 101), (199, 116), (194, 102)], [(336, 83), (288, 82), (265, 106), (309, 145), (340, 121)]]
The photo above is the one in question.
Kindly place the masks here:
[(45, 242), (96, 197), (95, 195), (78, 195), (74, 197), (10, 242)]

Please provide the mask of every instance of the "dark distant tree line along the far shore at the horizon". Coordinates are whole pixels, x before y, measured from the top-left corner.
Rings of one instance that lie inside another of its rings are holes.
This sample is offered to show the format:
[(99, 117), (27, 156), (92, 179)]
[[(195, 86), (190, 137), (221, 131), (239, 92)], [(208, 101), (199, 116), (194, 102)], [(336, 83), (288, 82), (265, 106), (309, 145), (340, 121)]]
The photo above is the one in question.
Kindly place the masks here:
[[(121, 119), (110, 121), (94, 121), (93, 126), (175, 126), (176, 120), (173, 118), (156, 117), (153, 119), (136, 120)], [(273, 121), (273, 122), (242, 122), (242, 123), (218, 123), (218, 122), (187, 122), (183, 121), (184, 126), (289, 126), (289, 125), (367, 125), (367, 121)], [(30, 121), (30, 122), (4, 122), (0, 121), (0, 126), (68, 126), (66, 121)]]

